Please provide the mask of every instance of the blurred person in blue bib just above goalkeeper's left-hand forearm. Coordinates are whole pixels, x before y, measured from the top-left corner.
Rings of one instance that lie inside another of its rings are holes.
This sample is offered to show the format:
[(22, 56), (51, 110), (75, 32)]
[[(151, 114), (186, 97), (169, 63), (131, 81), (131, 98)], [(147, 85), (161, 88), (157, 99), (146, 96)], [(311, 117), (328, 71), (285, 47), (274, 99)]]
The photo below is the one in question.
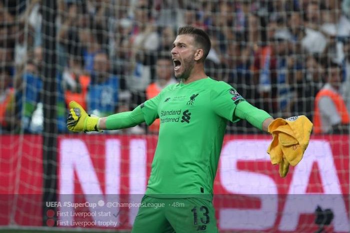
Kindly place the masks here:
[(107, 54), (94, 56), (91, 81), (87, 91), (87, 111), (99, 117), (118, 111), (118, 77), (110, 73)]

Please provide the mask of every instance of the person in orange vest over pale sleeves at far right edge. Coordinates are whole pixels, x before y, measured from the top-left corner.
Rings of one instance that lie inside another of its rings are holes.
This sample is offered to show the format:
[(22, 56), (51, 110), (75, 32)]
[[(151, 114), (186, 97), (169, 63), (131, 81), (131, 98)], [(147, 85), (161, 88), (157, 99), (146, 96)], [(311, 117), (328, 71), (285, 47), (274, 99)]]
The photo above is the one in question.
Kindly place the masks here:
[(326, 83), (317, 93), (314, 106), (314, 133), (348, 133), (349, 112), (339, 93), (341, 85), (340, 67), (327, 66)]

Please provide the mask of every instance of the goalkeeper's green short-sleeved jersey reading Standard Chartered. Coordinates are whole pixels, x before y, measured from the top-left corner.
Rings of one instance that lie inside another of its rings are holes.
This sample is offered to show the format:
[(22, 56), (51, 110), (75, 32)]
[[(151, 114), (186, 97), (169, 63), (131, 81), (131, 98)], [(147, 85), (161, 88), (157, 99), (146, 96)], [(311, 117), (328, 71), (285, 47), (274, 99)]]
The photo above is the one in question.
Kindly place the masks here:
[(141, 105), (147, 125), (160, 119), (146, 194), (211, 199), (227, 120), (243, 98), (211, 78), (174, 84)]

